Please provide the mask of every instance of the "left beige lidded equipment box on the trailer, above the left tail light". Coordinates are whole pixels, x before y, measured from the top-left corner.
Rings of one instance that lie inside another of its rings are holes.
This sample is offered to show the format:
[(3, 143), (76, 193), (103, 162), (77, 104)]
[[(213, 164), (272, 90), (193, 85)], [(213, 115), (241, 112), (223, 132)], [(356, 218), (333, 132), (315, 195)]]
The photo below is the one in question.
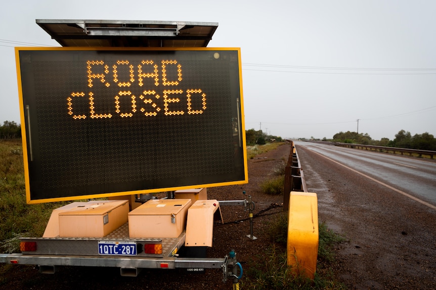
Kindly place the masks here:
[(77, 206), (59, 212), (59, 237), (105, 237), (126, 223), (127, 219), (127, 200), (79, 203)]

